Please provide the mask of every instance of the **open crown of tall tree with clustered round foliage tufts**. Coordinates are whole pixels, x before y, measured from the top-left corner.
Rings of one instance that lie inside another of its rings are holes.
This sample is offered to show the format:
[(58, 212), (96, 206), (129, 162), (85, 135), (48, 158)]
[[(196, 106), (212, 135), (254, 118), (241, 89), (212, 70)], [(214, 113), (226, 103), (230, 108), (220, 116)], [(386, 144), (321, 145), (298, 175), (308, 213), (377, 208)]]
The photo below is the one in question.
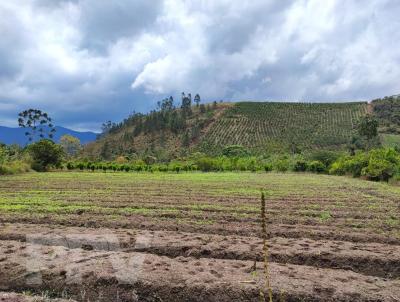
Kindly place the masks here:
[(52, 124), (52, 119), (46, 112), (39, 109), (28, 109), (18, 114), (18, 125), (26, 128), (25, 135), (29, 142), (36, 139), (43, 139), (46, 136), (52, 139), (56, 129)]

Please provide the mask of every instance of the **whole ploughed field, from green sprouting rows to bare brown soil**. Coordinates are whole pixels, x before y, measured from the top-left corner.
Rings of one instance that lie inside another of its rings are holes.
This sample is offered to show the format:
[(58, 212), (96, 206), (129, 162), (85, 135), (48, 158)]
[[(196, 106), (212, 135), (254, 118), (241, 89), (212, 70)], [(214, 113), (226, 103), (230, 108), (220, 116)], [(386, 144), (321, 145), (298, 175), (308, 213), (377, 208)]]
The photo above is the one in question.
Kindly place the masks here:
[(2, 177), (0, 290), (77, 301), (259, 301), (261, 190), (275, 298), (400, 299), (400, 188), (278, 173)]

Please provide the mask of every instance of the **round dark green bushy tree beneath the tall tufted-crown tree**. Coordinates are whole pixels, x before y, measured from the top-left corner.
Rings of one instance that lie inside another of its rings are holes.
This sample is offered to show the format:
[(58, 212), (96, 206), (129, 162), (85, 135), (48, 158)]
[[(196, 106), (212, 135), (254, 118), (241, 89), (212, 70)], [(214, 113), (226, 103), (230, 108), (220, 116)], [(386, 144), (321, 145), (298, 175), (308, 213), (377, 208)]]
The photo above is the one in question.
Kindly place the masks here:
[(60, 167), (64, 155), (60, 145), (55, 144), (52, 140), (42, 139), (28, 147), (28, 151), (32, 156), (32, 169), (38, 172), (44, 172), (49, 167)]

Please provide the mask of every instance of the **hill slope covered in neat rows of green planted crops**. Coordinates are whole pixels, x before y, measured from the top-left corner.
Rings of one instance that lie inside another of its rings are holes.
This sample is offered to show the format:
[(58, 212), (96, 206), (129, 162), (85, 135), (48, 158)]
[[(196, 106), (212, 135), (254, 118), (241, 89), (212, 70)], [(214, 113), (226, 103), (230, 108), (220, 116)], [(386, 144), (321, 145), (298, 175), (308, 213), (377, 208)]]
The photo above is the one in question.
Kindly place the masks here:
[(257, 151), (339, 149), (367, 112), (367, 103), (236, 103), (212, 125), (201, 141), (203, 150), (226, 145)]

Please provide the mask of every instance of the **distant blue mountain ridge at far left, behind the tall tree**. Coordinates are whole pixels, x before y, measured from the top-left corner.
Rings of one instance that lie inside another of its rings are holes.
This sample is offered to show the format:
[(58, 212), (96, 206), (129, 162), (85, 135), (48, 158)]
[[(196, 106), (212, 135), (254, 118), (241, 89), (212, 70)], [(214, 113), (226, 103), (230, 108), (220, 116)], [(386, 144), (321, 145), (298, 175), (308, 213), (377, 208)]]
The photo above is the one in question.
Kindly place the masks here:
[[(56, 126), (56, 133), (54, 135), (54, 140), (59, 142), (60, 138), (69, 134), (79, 138), (82, 144), (87, 144), (96, 140), (97, 133), (94, 132), (79, 132), (68, 128)], [(0, 142), (7, 145), (18, 144), (24, 146), (27, 143), (27, 138), (25, 136), (26, 129), (23, 128), (9, 128), (0, 126)]]

